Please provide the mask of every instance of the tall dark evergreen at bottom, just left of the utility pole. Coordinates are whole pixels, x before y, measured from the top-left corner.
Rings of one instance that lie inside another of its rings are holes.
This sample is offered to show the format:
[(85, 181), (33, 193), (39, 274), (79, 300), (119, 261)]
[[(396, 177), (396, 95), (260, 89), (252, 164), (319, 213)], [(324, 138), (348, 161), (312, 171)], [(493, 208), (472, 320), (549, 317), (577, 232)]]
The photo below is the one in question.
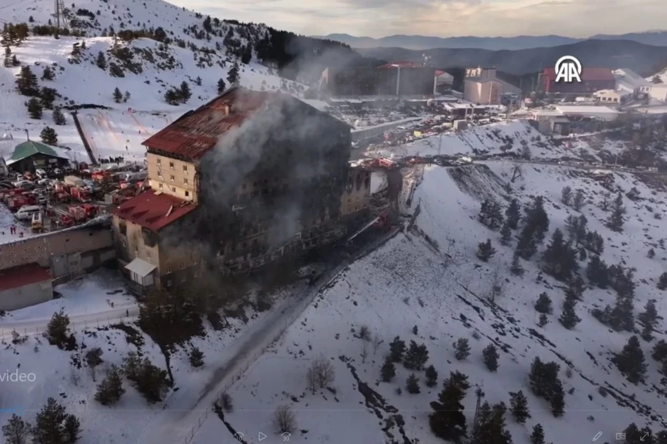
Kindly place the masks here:
[(461, 401), (470, 388), (468, 377), (460, 372), (450, 372), (450, 377), (443, 383), (438, 401), (430, 403), (434, 410), (428, 418), (431, 431), (435, 436), (446, 441), (460, 443), (466, 436), (466, 415)]

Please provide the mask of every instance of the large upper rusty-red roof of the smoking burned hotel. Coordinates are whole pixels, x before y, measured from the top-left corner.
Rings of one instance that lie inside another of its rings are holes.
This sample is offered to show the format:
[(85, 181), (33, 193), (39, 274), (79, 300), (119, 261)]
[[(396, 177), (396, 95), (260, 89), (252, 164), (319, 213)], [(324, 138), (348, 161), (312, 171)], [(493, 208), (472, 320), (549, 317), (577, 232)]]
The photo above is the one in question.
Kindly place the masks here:
[[(296, 100), (281, 92), (232, 87), (205, 105), (183, 114), (166, 128), (144, 140), (142, 145), (198, 160), (215, 146), (220, 136), (266, 109), (272, 101), (284, 98)], [(304, 105), (310, 106), (307, 103)], [(331, 118), (335, 119), (333, 116)], [(337, 121), (348, 126), (340, 120)]]

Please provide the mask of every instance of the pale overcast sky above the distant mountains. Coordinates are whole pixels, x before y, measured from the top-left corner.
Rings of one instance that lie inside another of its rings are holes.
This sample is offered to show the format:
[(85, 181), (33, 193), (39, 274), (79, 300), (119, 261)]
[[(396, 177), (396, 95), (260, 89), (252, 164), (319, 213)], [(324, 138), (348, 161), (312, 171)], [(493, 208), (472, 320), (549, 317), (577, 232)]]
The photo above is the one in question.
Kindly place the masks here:
[(587, 37), (667, 28), (667, 0), (168, 0), (298, 34)]

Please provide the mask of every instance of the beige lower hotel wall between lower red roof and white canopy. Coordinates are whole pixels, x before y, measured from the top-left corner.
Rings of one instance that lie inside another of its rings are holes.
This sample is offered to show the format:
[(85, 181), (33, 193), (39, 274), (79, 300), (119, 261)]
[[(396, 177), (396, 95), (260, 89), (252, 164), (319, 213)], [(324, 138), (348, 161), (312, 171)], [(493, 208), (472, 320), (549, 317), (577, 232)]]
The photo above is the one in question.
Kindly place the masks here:
[[(118, 216), (113, 217), (112, 225), (117, 241), (117, 257), (121, 265), (124, 266), (139, 257), (139, 259), (157, 266), (158, 271), (160, 270), (160, 251), (157, 234), (151, 234), (145, 229), (142, 230), (141, 225), (128, 222)], [(152, 236), (155, 236), (152, 239), (155, 240), (155, 244), (150, 246)]]

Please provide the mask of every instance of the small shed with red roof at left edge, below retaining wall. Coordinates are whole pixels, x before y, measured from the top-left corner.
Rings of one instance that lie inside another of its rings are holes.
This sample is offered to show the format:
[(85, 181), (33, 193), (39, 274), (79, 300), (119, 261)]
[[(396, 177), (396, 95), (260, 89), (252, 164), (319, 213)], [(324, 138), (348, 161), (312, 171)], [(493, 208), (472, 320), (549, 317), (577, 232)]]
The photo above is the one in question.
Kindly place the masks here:
[(0, 310), (18, 310), (53, 299), (51, 273), (39, 264), (0, 271)]

